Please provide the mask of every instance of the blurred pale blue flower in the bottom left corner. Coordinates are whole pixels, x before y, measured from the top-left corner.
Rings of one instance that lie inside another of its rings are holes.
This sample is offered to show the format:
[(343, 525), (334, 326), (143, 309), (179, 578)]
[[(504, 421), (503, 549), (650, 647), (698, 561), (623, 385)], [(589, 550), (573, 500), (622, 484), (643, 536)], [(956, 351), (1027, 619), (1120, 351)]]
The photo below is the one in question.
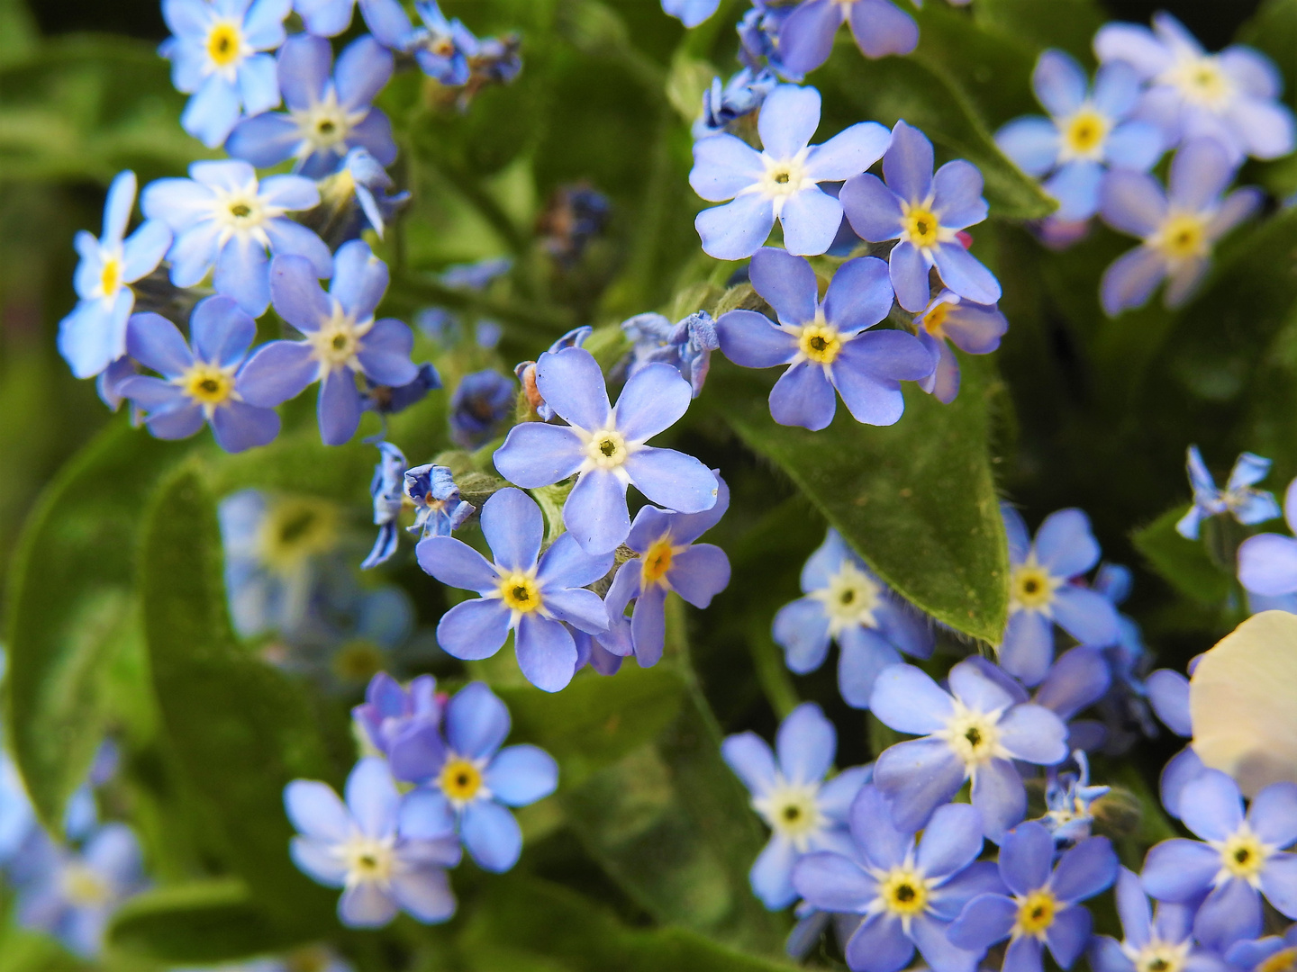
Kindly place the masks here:
[(38, 842), (23, 851), (34, 859), (18, 889), (18, 924), (95, 958), (113, 911), (144, 888), (140, 844), (125, 823), (104, 824), (80, 851), (56, 846), (43, 832)]

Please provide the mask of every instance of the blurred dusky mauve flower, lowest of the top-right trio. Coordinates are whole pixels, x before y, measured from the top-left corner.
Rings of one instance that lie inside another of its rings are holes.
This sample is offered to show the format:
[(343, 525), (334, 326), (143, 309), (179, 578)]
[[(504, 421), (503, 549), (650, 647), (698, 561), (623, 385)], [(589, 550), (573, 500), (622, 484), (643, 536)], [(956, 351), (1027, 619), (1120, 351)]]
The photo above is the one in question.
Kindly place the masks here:
[(1193, 295), (1217, 241), (1261, 206), (1259, 189), (1222, 196), (1235, 168), (1220, 143), (1193, 139), (1171, 159), (1170, 193), (1145, 172), (1108, 175), (1100, 192), (1104, 222), (1143, 240), (1104, 271), (1100, 295), (1109, 316), (1143, 307), (1163, 280), (1167, 307)]

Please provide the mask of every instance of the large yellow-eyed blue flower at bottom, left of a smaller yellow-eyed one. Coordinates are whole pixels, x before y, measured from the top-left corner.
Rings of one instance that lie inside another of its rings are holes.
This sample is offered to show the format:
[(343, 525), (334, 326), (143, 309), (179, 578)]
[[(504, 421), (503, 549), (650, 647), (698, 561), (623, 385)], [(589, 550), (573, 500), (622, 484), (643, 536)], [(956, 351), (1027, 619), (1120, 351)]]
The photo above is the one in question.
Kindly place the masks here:
[(860, 789), (850, 814), (848, 853), (808, 854), (792, 883), (807, 902), (834, 912), (863, 915), (847, 941), (853, 972), (898, 972), (916, 946), (933, 972), (973, 972), (984, 950), (952, 945), (946, 932), (974, 896), (1003, 890), (982, 851), (982, 820), (968, 804), (939, 807), (923, 831), (901, 829), (887, 800), (873, 785)]

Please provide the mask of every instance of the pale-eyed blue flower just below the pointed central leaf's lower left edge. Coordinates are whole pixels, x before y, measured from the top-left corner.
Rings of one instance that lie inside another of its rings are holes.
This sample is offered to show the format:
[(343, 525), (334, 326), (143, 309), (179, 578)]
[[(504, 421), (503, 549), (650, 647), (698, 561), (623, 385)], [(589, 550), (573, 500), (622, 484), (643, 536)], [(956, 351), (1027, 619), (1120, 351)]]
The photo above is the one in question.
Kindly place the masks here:
[(774, 640), (792, 671), (805, 675), (824, 665), (829, 643), (842, 649), (838, 691), (847, 705), (869, 708), (874, 679), (900, 652), (918, 658), (933, 653), (933, 632), (865, 566), (842, 535), (829, 527), (820, 548), (802, 568), (804, 597), (774, 616)]

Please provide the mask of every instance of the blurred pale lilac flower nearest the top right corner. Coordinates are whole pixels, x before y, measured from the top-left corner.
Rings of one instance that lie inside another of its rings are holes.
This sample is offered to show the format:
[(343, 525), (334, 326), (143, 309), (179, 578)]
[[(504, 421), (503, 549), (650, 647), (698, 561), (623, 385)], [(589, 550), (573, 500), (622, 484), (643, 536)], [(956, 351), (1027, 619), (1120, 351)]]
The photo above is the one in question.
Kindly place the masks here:
[(1284, 78), (1250, 47), (1209, 54), (1175, 17), (1153, 14), (1153, 30), (1109, 23), (1095, 35), (1100, 61), (1123, 61), (1148, 83), (1135, 117), (1162, 128), (1167, 145), (1197, 137), (1220, 143), (1237, 165), (1245, 156), (1279, 158), (1293, 150), (1293, 113), (1281, 101)]

